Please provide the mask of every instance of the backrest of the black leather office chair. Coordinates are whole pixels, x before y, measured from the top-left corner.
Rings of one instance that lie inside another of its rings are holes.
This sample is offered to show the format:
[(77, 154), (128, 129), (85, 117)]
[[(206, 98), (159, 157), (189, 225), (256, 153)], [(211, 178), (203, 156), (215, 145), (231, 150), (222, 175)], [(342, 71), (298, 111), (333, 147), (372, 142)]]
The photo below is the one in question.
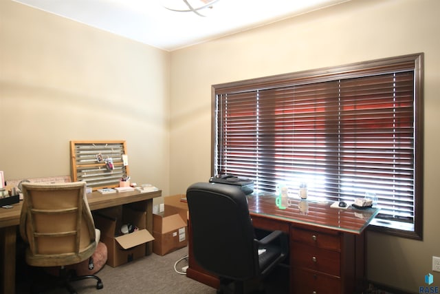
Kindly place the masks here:
[(245, 194), (234, 185), (199, 182), (186, 191), (195, 260), (234, 280), (258, 272), (254, 228)]

